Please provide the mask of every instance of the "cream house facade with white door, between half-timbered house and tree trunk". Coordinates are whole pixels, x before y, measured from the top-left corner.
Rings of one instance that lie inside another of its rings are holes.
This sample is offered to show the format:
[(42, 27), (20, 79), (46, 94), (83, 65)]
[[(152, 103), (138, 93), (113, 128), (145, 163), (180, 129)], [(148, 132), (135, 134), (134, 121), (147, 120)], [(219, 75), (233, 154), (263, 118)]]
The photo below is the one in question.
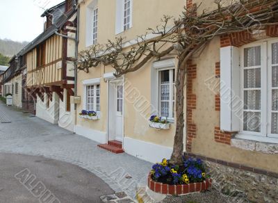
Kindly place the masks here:
[[(126, 49), (129, 49), (129, 43), (137, 35), (144, 34), (147, 28), (159, 24), (164, 14), (178, 17), (184, 3), (183, 0), (159, 0), (152, 3), (147, 0), (83, 1), (80, 4), (79, 20), (83, 23), (79, 26), (79, 51), (92, 44), (104, 44), (108, 39), (113, 40), (116, 37), (124, 38)], [(142, 15), (142, 10), (145, 10), (145, 15)], [(156, 12), (152, 12), (153, 10)], [(107, 13), (112, 17), (105, 17)], [(79, 71), (76, 87), (81, 103), (76, 106), (75, 132), (104, 145), (118, 145), (124, 152), (147, 161), (156, 162), (164, 157), (169, 158), (175, 131), (172, 98), (176, 63), (173, 56), (165, 58), (163, 62), (152, 61), (139, 72), (126, 74), (120, 79), (115, 79), (114, 70), (109, 66), (92, 68), (88, 74)], [(165, 108), (158, 101), (158, 89), (163, 88), (164, 82), (158, 83), (158, 78), (165, 78), (170, 82), (171, 96), (165, 103), (172, 106), (163, 110), (171, 121), (171, 127), (161, 131), (149, 127), (152, 108)], [(82, 110), (96, 111), (99, 119), (87, 120), (79, 117)], [(111, 141), (115, 143), (110, 143)], [(113, 146), (101, 147), (121, 152)]]

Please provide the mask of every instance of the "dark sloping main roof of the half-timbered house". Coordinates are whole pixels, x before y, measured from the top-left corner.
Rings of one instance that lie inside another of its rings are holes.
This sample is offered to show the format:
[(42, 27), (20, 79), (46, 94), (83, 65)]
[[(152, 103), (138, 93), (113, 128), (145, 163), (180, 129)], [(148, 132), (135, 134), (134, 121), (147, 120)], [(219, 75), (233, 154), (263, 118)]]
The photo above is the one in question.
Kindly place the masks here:
[(64, 13), (63, 15), (61, 15), (55, 24), (53, 24), (51, 27), (49, 27), (49, 29), (47, 29), (46, 31), (44, 31), (43, 33), (41, 33), (40, 35), (38, 35), (37, 38), (35, 38), (35, 40), (33, 40), (32, 42), (30, 42), (29, 44), (27, 44), (26, 47), (24, 47), (22, 49), (22, 51), (19, 51), (19, 53), (17, 55), (24, 55), (26, 53), (28, 53), (28, 51), (31, 51), (32, 49), (34, 49), (35, 47), (37, 47), (40, 43), (44, 42), (45, 40), (47, 40), (48, 38), (50, 38), (52, 35), (55, 34), (56, 31), (58, 31), (59, 29), (61, 29), (61, 27), (65, 24), (65, 22), (67, 22), (67, 19), (69, 19), (72, 14), (75, 13), (75, 10), (72, 9), (70, 12), (68, 13)]

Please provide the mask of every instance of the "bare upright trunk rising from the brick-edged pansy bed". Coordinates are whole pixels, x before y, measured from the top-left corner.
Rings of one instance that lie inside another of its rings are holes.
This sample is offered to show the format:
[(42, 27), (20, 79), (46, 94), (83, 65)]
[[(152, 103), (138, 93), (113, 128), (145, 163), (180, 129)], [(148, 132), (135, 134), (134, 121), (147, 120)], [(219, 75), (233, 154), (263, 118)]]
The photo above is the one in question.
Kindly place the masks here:
[[(180, 65), (180, 63), (179, 63)], [(184, 119), (183, 119), (183, 106), (184, 106), (184, 94), (183, 88), (186, 78), (186, 68), (179, 67), (177, 68), (176, 74), (176, 133), (174, 135), (174, 147), (171, 156), (170, 163), (172, 164), (181, 164), (183, 162), (183, 128), (184, 128)]]

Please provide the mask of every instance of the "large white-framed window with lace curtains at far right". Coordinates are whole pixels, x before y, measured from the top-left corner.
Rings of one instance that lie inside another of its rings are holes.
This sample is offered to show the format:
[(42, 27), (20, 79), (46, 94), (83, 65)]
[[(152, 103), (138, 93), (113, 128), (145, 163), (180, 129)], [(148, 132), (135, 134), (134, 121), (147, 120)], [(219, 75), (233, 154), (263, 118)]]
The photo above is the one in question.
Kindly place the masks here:
[(248, 44), (241, 56), (241, 130), (278, 138), (278, 40)]

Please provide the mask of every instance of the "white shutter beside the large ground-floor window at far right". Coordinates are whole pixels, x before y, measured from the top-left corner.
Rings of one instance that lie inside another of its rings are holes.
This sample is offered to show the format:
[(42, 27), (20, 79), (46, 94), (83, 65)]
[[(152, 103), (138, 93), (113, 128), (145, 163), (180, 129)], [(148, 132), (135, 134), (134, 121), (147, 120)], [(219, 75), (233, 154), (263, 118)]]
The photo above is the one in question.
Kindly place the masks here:
[(242, 101), (240, 99), (240, 50), (220, 49), (220, 129), (239, 131)]

